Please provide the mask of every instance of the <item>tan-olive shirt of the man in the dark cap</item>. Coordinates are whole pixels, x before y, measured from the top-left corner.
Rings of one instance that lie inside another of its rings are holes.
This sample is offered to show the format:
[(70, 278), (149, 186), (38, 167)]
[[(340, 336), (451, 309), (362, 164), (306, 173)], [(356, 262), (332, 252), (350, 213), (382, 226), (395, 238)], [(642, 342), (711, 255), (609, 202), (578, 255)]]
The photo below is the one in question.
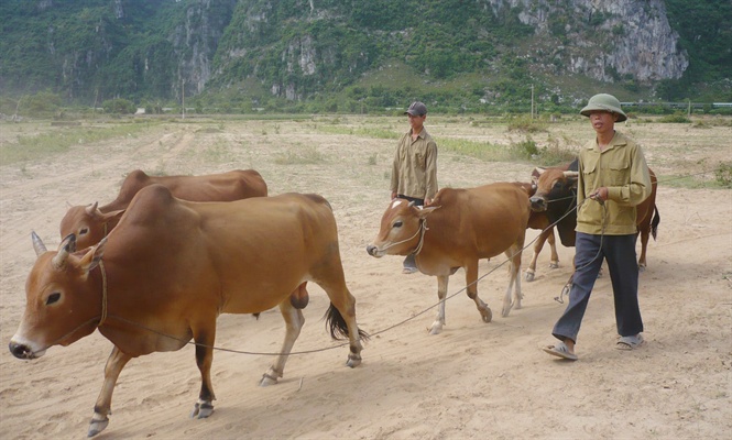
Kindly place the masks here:
[(431, 199), (437, 194), (437, 144), (426, 129), (422, 129), (415, 141), (412, 130), (400, 140), (391, 190), (417, 199)]

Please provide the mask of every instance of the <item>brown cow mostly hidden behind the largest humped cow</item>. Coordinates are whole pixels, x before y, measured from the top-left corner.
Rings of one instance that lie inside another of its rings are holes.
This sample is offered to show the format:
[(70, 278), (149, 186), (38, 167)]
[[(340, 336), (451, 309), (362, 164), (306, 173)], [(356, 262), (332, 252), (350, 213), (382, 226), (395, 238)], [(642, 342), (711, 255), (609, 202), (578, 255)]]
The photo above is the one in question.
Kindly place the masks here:
[(140, 169), (128, 174), (117, 198), (98, 204), (75, 206), (61, 221), (61, 237), (76, 234), (79, 249), (99, 243), (117, 226), (138, 191), (150, 185), (163, 185), (173, 196), (188, 201), (231, 201), (267, 195), (266, 183), (254, 169), (234, 169), (205, 176), (149, 176)]

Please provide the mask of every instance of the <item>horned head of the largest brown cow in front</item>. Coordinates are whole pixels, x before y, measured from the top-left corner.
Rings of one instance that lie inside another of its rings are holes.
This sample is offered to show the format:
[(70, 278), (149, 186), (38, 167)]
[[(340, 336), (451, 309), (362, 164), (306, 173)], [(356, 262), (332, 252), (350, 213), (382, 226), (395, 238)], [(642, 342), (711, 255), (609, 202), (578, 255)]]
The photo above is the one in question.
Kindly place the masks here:
[(15, 358), (42, 356), (46, 349), (68, 345), (96, 329), (101, 309), (101, 283), (89, 272), (101, 258), (107, 240), (86, 253), (75, 253), (76, 237), (66, 237), (58, 251), (48, 252), (33, 232), (37, 258), (25, 282), (25, 310), (10, 340)]

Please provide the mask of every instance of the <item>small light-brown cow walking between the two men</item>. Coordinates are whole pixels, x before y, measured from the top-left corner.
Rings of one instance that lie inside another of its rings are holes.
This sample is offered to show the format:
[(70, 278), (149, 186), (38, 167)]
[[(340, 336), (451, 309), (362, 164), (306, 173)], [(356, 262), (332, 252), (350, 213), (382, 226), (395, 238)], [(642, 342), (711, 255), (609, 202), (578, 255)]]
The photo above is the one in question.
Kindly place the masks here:
[[(521, 252), (529, 216), (528, 196), (518, 186), (499, 183), (478, 188), (443, 188), (431, 204), (418, 208), (393, 200), (381, 219), (376, 238), (367, 252), (383, 255), (416, 254), (417, 268), (437, 276), (439, 308), (430, 332), (445, 326), (445, 297), (450, 275), (466, 271), (468, 297), (485, 322), (491, 309), (478, 297), (478, 261), (505, 253), (511, 262), (509, 288), (503, 298), (502, 316), (512, 307), (521, 308)], [(511, 292), (515, 284), (513, 302)]]

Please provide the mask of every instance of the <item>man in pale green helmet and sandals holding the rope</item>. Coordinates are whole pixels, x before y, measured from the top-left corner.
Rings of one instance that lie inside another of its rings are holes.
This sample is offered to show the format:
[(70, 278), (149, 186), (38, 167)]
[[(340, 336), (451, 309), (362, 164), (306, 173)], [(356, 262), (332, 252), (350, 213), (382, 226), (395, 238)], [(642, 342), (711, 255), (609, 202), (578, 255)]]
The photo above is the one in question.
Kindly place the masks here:
[(615, 306), (615, 348), (643, 343), (635, 255), (636, 209), (651, 195), (648, 166), (641, 147), (615, 131), (627, 119), (612, 95), (590, 98), (580, 114), (590, 119), (596, 139), (580, 148), (577, 180), (575, 276), (569, 304), (551, 334), (558, 343), (547, 353), (575, 361), (575, 343), (602, 261), (608, 261)]

